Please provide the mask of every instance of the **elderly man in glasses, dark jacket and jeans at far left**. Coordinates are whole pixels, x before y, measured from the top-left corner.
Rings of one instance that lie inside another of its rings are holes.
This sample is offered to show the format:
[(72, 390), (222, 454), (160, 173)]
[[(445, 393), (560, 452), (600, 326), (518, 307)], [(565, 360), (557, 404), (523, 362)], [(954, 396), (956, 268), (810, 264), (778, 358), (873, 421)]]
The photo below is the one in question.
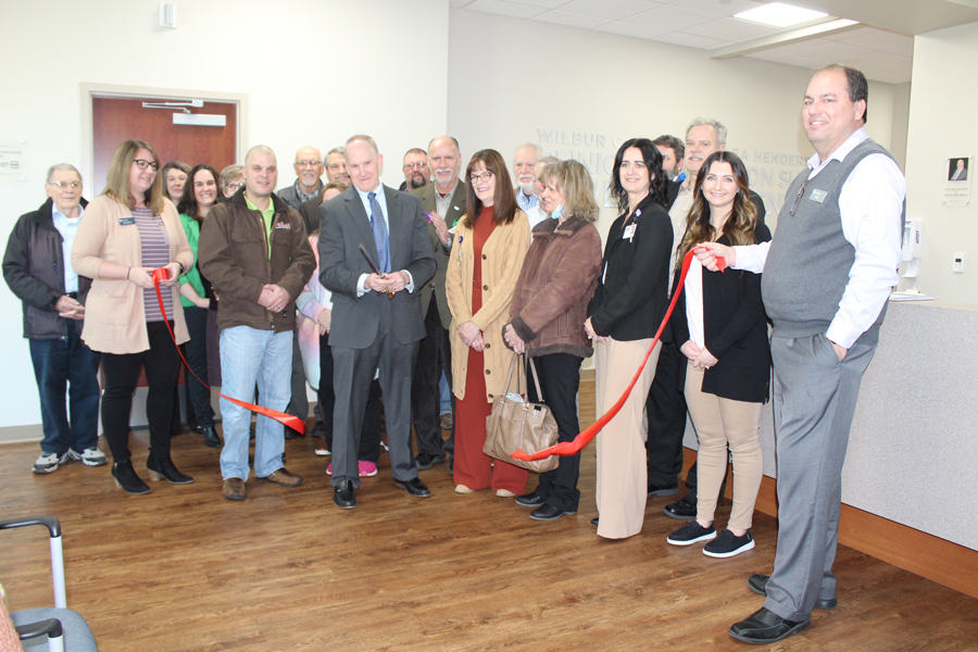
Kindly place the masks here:
[(82, 199), (82, 175), (67, 163), (48, 170), (45, 188), (48, 200), (17, 220), (3, 256), (3, 277), (24, 305), (24, 337), (40, 392), (43, 439), (36, 474), (73, 460), (86, 466), (106, 462), (99, 450), (100, 355), (80, 339), (91, 279), (66, 263), (88, 202)]

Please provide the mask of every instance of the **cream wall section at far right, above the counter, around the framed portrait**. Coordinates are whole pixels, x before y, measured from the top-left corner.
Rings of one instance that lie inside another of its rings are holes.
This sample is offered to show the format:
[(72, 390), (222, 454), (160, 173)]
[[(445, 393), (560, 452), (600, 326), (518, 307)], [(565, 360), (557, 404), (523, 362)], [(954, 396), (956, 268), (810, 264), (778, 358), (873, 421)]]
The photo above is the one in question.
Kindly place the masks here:
[[(957, 303), (978, 303), (978, 196), (970, 205), (941, 205), (951, 156), (973, 156), (978, 174), (978, 133), (970, 116), (978, 104), (975, 61), (978, 23), (917, 36), (906, 143), (906, 216), (924, 220), (924, 247), (915, 281), (925, 294)], [(978, 192), (978, 183), (971, 180)], [(951, 271), (952, 256), (965, 253), (964, 274)]]

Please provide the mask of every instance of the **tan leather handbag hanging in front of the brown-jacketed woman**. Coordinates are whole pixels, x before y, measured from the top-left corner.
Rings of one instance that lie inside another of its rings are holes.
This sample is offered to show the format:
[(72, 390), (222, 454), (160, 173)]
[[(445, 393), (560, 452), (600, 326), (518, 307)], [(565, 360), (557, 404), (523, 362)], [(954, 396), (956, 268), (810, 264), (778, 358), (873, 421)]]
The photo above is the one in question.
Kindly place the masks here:
[[(510, 363), (510, 373), (506, 376), (506, 388), (510, 387), (516, 361), (519, 358), (519, 354), (513, 353), (513, 362)], [(543, 393), (540, 391), (540, 379), (537, 377), (537, 367), (534, 365), (532, 358), (530, 358), (530, 369), (534, 374), (537, 397), (542, 401)], [(486, 446), (482, 447), (482, 452), (490, 457), (537, 473), (553, 471), (560, 464), (560, 460), (555, 455), (536, 462), (524, 462), (512, 457), (513, 452), (517, 450), (532, 454), (550, 448), (557, 442), (559, 437), (556, 419), (553, 418), (550, 408), (542, 403), (527, 401), (524, 392), (519, 391), (518, 385), (516, 391), (519, 392), (518, 396), (505, 393), (496, 397), (492, 401), (492, 412), (486, 417)]]

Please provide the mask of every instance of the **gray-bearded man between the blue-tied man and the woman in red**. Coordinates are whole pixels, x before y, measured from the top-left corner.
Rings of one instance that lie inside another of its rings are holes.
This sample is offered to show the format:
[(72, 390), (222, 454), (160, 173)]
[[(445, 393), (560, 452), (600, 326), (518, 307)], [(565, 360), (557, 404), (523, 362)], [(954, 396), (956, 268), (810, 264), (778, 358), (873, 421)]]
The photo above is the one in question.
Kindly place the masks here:
[(452, 313), (444, 296), (444, 272), (452, 251), (449, 229), (465, 214), (465, 184), (459, 179), (461, 166), (459, 141), (451, 136), (434, 138), (428, 143), (428, 168), (434, 173), (435, 183), (412, 192), (421, 199), (422, 210), (428, 218), (430, 247), (438, 263), (431, 281), (421, 289), (427, 336), (418, 348), (414, 385), (411, 387), (411, 409), (417, 438), (417, 457), (414, 461), (419, 471), (444, 462), (438, 381), (443, 371), (449, 387), (452, 385), (452, 350), (448, 335)]

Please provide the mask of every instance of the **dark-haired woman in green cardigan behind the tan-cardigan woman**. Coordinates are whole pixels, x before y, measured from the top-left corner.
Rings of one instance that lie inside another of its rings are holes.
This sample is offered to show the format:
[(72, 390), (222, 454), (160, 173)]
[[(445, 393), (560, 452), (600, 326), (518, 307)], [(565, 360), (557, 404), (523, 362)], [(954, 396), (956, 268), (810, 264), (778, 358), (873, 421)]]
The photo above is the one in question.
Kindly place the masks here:
[[(210, 165), (197, 165), (190, 171), (184, 195), (177, 204), (180, 224), (187, 234), (187, 241), (197, 260), (197, 241), (200, 239), (200, 224), (217, 203), (217, 172)], [(184, 355), (192, 374), (185, 374), (189, 409), (197, 416), (197, 428), (203, 435), (204, 446), (221, 448), (221, 438), (214, 429), (214, 409), (211, 406), (211, 390), (204, 386), (208, 380), (208, 314), (217, 310), (213, 301), (211, 284), (201, 276), (197, 263), (180, 276), (180, 303), (190, 341), (184, 344)], [(216, 324), (213, 319), (212, 323)], [(196, 377), (195, 377), (196, 376)], [(200, 380), (198, 380), (200, 378)], [(190, 421), (189, 418), (187, 419)]]

